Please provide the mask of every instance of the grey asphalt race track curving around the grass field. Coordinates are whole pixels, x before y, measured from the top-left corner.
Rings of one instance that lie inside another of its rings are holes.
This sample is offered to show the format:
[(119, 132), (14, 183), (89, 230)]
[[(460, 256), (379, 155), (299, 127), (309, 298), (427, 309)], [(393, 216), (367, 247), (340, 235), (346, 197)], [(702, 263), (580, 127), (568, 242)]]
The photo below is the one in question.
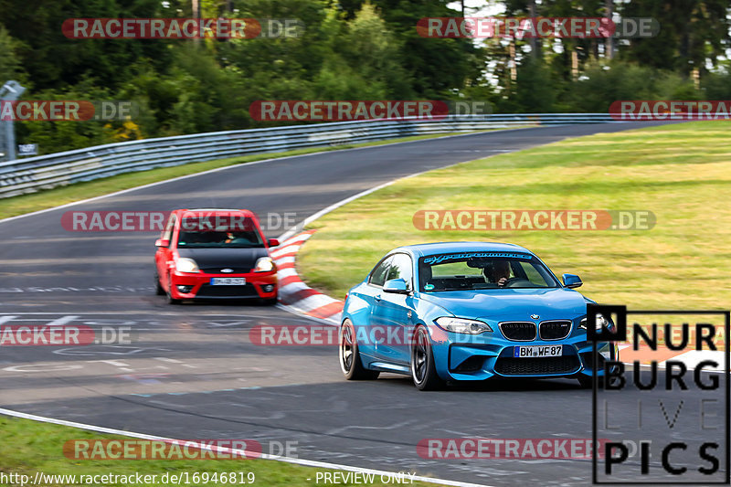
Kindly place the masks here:
[[(646, 125), (486, 132), (290, 157), (0, 222), (0, 324), (83, 324), (131, 333), (131, 344), (122, 345), (3, 347), (0, 406), (178, 439), (258, 439), (265, 451), (271, 442), (296, 441), (303, 459), (463, 482), (585, 485), (591, 479), (590, 461), (425, 459), (416, 448), (427, 438), (590, 439), (591, 391), (574, 381), (496, 383), (437, 393), (418, 392), (399, 376), (346, 382), (332, 347), (249, 342), (248, 330), (257, 324), (314, 322), (279, 307), (170, 306), (154, 295), (155, 233), (74, 233), (62, 228), (60, 219), (69, 209), (219, 206), (246, 207), (260, 215), (292, 212), (301, 222), (397, 177)], [(284, 229), (270, 228), (268, 237)], [(632, 389), (620, 399), (629, 406), (618, 410), (629, 414), (637, 397), (648, 396)], [(668, 397), (667, 407), (674, 410)], [(693, 408), (698, 405), (683, 409), (673, 438), (698, 439)], [(662, 417), (657, 420), (661, 430)], [(658, 457), (653, 454), (651, 470), (659, 469)], [(689, 469), (699, 466), (693, 455), (685, 460)], [(632, 464), (639, 469), (637, 459)]]

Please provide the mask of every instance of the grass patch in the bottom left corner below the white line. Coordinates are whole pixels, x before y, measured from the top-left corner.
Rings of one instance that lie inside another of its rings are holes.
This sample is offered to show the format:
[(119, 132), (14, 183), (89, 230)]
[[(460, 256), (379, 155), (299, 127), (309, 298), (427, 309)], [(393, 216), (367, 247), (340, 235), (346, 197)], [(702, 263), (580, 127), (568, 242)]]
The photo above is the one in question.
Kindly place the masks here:
[[(223, 472), (242, 472), (236, 476), (236, 483), (241, 478), (249, 480), (247, 474), (253, 472), (255, 482), (253, 485), (266, 487), (304, 487), (316, 485), (316, 474), (320, 472), (332, 472), (325, 469), (302, 467), (281, 461), (270, 460), (185, 460), (185, 461), (145, 461), (145, 460), (70, 460), (64, 455), (64, 444), (69, 440), (93, 440), (93, 439), (124, 439), (124, 437), (113, 435), (101, 435), (92, 431), (73, 429), (64, 426), (57, 426), (48, 423), (39, 423), (28, 419), (8, 418), (0, 416), (0, 475), (11, 473), (28, 475), (33, 482), (36, 473), (46, 475), (157, 475), (157, 482), (144, 483), (145, 487), (155, 485), (168, 485), (162, 482), (164, 474), (185, 475), (190, 483), (183, 485), (231, 485), (230, 482), (210, 482), (213, 474), (220, 476)], [(73, 450), (71, 450), (73, 451)], [(71, 455), (73, 457), (73, 455)], [(192, 482), (193, 474), (207, 472), (209, 482)], [(169, 478), (169, 477), (168, 477)], [(0, 476), (0, 479), (2, 477)], [(185, 479), (185, 477), (182, 477)], [(310, 479), (310, 480), (308, 480)], [(378, 479), (378, 475), (376, 475)], [(5, 482), (0, 480), (0, 485), (20, 485), (20, 482)], [(59, 479), (60, 480), (60, 479)], [(80, 480), (80, 479), (79, 479)], [(173, 482), (175, 483), (175, 482)], [(322, 481), (320, 482), (323, 483)], [(28, 483), (26, 483), (27, 485)], [(73, 482), (44, 482), (41, 485), (73, 485)], [(84, 483), (76, 482), (76, 485)], [(90, 483), (86, 483), (91, 485)], [(96, 485), (128, 485), (120, 482), (103, 482)], [(344, 482), (339, 485), (364, 485), (363, 483)], [(380, 481), (368, 483), (367, 485), (387, 485)], [(433, 483), (414, 482), (411, 485), (425, 487), (435, 485)]]

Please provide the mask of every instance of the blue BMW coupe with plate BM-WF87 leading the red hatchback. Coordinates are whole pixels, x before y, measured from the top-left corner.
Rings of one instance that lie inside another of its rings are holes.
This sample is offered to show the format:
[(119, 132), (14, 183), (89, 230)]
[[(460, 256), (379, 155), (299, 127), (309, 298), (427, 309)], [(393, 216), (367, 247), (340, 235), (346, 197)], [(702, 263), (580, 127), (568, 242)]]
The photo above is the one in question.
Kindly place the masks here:
[[(410, 375), (421, 390), (502, 377), (573, 377), (591, 386), (593, 348), (581, 280), (558, 281), (513, 244), (450, 242), (394, 249), (348, 291), (338, 357), (347, 379)], [(598, 315), (597, 327), (613, 323)], [(617, 360), (598, 344), (598, 375)]]

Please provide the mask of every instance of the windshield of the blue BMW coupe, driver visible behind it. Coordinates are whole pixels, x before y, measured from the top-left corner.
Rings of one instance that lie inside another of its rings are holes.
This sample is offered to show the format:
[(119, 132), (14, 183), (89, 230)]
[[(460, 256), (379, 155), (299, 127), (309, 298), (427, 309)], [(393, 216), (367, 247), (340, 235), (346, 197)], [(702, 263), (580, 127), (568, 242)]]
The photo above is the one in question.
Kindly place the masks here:
[(560, 284), (529, 254), (467, 252), (422, 257), (421, 291), (557, 288)]

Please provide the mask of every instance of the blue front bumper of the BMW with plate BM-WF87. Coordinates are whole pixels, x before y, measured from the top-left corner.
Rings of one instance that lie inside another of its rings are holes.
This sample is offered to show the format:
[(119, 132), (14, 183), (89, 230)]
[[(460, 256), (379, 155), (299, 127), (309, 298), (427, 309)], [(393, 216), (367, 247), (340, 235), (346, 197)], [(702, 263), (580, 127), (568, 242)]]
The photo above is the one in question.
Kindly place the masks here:
[[(514, 358), (515, 346), (535, 345), (561, 345), (562, 355)], [(597, 375), (603, 376), (605, 360), (618, 360), (619, 350), (617, 344), (607, 342), (599, 343), (597, 349)], [(518, 342), (495, 334), (482, 340), (466, 338), (462, 333), (437, 329), (432, 333), (432, 350), (437, 371), (446, 380), (484, 380), (494, 376), (591, 377), (593, 374), (593, 344), (587, 341), (586, 333), (572, 333), (562, 340)]]

